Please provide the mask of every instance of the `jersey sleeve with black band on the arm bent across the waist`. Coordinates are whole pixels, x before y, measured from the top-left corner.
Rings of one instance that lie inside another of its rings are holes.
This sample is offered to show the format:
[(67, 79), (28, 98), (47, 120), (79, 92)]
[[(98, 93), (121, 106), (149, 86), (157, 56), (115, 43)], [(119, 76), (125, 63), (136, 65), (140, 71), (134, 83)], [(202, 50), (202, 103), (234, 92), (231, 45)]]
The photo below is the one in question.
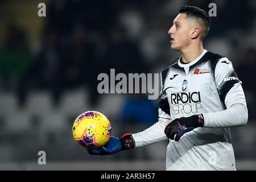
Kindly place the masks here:
[(238, 80), (232, 63), (226, 57), (218, 61), (214, 76), (218, 93), (226, 109), (214, 113), (203, 113), (204, 127), (246, 125), (248, 110), (242, 82)]

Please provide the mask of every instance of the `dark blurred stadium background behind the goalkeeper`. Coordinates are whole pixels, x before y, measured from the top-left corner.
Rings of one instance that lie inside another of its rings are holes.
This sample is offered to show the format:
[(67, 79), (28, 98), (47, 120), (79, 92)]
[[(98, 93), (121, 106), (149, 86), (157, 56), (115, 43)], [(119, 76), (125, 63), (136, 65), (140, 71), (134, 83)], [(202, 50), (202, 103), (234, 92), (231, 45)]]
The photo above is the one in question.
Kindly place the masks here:
[[(46, 3), (46, 17), (38, 3)], [(217, 17), (204, 47), (233, 62), (243, 82), (249, 121), (233, 127), (237, 169), (256, 169), (255, 1), (0, 1), (0, 169), (164, 170), (166, 142), (113, 156), (90, 156), (72, 138), (84, 111), (98, 110), (113, 135), (156, 121), (158, 100), (140, 94), (98, 94), (97, 75), (159, 73), (176, 59), (168, 29), (182, 5)], [(38, 151), (46, 151), (39, 166)]]

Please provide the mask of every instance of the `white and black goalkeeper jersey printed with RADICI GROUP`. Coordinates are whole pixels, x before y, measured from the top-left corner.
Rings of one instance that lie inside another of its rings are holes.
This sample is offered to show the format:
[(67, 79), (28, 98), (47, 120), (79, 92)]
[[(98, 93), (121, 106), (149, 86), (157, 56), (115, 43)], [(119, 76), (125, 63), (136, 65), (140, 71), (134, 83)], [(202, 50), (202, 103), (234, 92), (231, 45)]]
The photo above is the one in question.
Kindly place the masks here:
[(135, 147), (168, 139), (164, 129), (170, 120), (203, 114), (204, 127), (185, 133), (179, 142), (170, 140), (166, 169), (236, 170), (229, 127), (247, 123), (242, 82), (221, 55), (204, 50), (191, 63), (182, 64), (181, 59), (162, 70), (159, 120), (133, 134)]

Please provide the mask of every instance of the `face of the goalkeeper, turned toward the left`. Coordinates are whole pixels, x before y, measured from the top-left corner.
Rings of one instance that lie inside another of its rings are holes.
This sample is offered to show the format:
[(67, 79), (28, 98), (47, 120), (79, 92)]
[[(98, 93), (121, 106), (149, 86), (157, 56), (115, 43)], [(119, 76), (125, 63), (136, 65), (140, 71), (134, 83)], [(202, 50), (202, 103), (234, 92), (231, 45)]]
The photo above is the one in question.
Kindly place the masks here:
[(191, 34), (193, 32), (191, 20), (186, 14), (179, 14), (174, 19), (174, 24), (168, 31), (171, 35), (171, 48), (175, 51), (181, 51), (191, 42)]

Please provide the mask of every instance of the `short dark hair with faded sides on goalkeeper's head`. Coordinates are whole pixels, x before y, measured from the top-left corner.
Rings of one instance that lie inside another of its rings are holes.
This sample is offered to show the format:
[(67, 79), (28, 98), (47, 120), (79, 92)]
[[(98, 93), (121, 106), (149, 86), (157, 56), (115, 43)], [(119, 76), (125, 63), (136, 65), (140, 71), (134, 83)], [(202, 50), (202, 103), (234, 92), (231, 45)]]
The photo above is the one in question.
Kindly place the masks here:
[(202, 9), (196, 6), (181, 6), (179, 13), (186, 14), (189, 18), (196, 19), (197, 22), (203, 24), (204, 29), (201, 31), (201, 39), (204, 40), (210, 28), (210, 17)]

